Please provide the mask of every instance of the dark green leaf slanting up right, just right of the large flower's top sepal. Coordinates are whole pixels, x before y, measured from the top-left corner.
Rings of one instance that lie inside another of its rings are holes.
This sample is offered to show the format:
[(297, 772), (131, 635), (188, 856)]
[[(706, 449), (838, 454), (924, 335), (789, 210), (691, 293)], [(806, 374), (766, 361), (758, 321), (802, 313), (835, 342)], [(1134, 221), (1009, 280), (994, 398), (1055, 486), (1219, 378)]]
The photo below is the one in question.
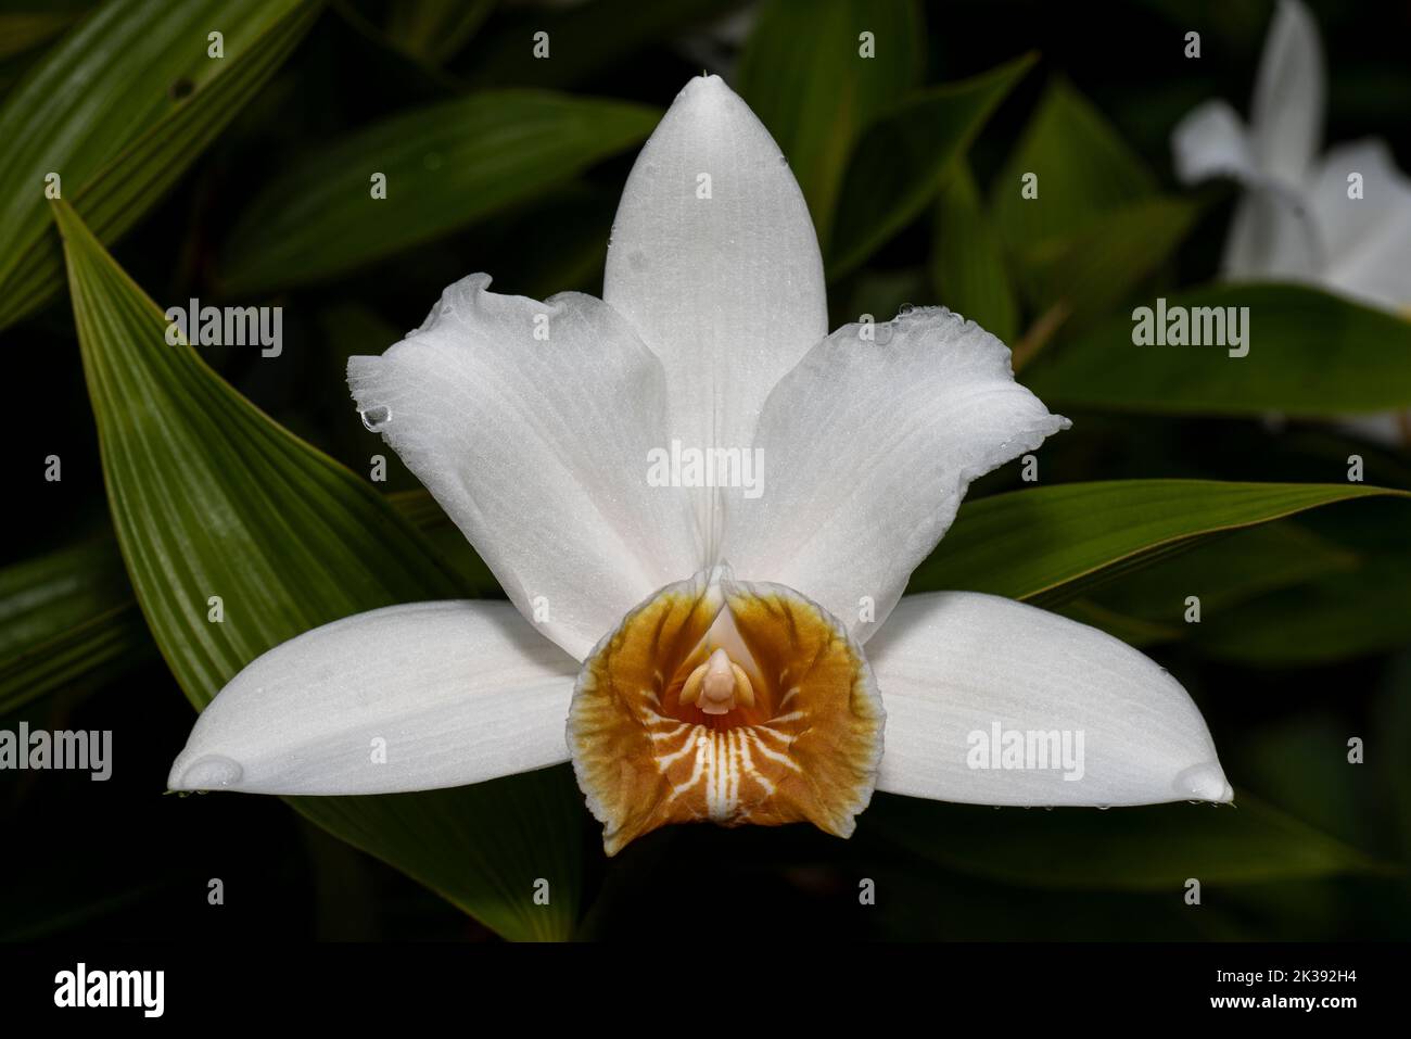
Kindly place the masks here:
[(1024, 55), (971, 79), (930, 88), (879, 114), (852, 154), (838, 195), (828, 277), (866, 260), (926, 209), (957, 158), (1029, 72)]

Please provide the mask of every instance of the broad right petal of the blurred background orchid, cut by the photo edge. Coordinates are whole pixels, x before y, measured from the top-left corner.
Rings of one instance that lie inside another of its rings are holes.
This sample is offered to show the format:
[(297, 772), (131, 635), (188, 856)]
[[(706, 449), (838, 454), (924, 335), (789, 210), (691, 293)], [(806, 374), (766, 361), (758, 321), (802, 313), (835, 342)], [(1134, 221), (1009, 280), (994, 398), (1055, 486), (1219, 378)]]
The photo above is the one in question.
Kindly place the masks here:
[[(1360, 198), (1348, 195), (1352, 174), (1362, 175)], [(1328, 285), (1373, 306), (1411, 308), (1411, 179), (1387, 145), (1367, 140), (1331, 150), (1309, 191)]]

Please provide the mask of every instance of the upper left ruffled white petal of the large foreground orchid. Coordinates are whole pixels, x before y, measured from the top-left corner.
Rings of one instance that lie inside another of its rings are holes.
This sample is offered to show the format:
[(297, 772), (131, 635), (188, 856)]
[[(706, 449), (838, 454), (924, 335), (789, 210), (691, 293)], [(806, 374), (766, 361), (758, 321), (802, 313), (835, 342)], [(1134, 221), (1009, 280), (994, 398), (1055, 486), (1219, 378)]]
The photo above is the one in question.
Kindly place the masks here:
[(700, 569), (689, 504), (648, 487), (662, 367), (601, 301), (442, 295), (381, 357), (353, 357), (364, 418), (528, 618), (580, 659), (628, 610)]

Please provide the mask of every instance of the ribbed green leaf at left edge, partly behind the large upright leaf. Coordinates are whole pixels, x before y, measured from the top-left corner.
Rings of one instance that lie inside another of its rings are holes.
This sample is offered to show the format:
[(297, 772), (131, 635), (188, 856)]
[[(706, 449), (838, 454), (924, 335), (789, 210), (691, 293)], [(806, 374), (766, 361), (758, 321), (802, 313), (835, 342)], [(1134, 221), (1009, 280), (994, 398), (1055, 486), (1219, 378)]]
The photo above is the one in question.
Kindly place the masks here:
[(0, 714), (151, 649), (113, 541), (0, 570)]

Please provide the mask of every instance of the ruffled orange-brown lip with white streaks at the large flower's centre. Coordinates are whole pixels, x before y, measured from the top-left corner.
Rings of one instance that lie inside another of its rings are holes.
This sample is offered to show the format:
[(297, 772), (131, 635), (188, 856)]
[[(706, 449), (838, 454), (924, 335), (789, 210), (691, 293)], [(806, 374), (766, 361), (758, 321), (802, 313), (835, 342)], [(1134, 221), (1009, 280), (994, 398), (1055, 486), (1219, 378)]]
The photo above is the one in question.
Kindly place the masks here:
[(821, 607), (717, 567), (629, 613), (579, 673), (569, 747), (604, 847), (669, 823), (848, 836), (882, 757), (861, 648)]

